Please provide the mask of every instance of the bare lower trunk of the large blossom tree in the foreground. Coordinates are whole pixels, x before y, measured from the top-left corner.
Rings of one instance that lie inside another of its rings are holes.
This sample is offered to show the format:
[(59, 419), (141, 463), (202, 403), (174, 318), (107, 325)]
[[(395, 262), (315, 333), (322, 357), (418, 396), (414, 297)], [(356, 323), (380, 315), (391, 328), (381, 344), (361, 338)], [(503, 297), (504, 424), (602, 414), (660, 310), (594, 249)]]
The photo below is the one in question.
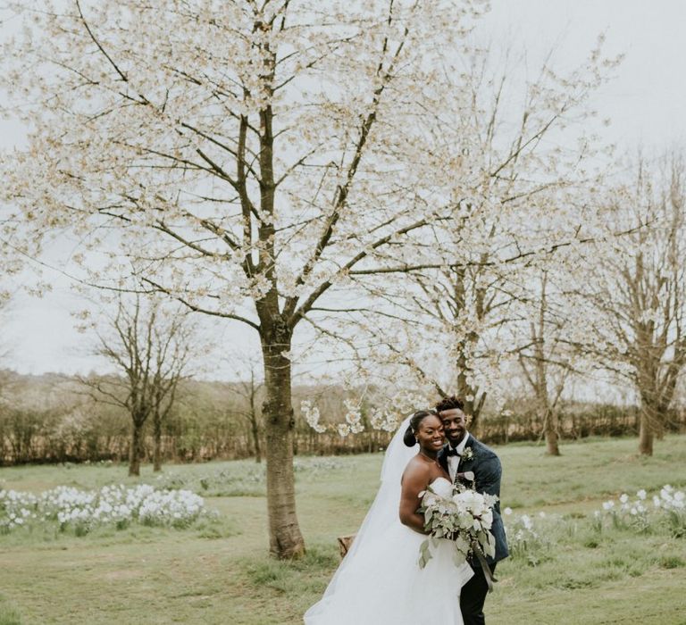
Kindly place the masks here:
[(267, 461), (267, 513), (269, 551), (280, 558), (305, 554), (305, 541), (296, 516), (296, 488), (293, 472), (295, 420), (291, 405), (290, 361), (283, 355), (290, 349), (288, 329), (275, 329), (273, 337), (262, 337), (264, 356), (264, 429)]

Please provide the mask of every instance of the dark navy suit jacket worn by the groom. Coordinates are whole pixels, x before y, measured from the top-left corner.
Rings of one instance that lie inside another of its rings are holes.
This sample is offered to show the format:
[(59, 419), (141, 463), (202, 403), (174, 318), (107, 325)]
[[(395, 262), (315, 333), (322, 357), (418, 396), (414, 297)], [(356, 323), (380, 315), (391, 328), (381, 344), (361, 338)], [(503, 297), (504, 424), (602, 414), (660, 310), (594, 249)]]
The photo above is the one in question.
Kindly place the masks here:
[[(489, 495), (500, 496), (500, 476), (502, 475), (502, 467), (500, 466), (500, 459), (495, 452), (488, 446), (485, 446), (481, 441), (474, 438), (471, 434), (467, 440), (464, 449), (472, 449), (472, 458), (469, 460), (461, 460), (458, 472), (473, 471), (474, 473), (474, 490), (478, 493), (488, 493)], [(448, 445), (443, 446), (439, 451), (439, 463), (448, 473)], [(472, 487), (472, 483), (463, 482), (464, 486)], [(496, 539), (496, 554), (494, 557), (487, 557), (489, 564), (503, 560), (509, 555), (507, 550), (507, 540), (505, 536), (505, 527), (500, 516), (500, 501), (493, 506), (493, 525), (490, 528), (493, 537)], [(480, 566), (479, 561), (474, 559), (470, 562), (473, 567)]]

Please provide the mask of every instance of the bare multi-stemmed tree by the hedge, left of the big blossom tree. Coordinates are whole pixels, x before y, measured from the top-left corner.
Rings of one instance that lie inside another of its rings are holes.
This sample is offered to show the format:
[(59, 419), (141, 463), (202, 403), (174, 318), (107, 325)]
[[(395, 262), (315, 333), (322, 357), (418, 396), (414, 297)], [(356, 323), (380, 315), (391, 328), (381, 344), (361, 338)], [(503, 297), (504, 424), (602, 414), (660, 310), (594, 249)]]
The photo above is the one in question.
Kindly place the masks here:
[(171, 411), (181, 379), (188, 377), (192, 327), (188, 311), (163, 307), (157, 300), (120, 296), (116, 313), (104, 327), (94, 326), (97, 354), (116, 374), (81, 379), (96, 400), (124, 408), (131, 418), (129, 474), (140, 475), (143, 428), (153, 417), (154, 470), (162, 468), (162, 424)]

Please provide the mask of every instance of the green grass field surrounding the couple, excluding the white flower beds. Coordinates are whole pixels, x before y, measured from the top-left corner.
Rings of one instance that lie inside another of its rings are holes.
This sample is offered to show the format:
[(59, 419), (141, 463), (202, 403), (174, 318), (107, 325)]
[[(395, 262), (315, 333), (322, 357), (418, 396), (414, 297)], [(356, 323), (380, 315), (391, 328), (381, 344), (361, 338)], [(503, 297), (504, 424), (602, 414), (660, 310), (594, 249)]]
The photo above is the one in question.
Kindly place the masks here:
[[(513, 518), (531, 515), (542, 538), (498, 566), (490, 625), (686, 623), (686, 537), (592, 521), (608, 497), (686, 487), (685, 436), (659, 441), (653, 458), (635, 447), (634, 439), (588, 440), (564, 445), (559, 458), (540, 446), (497, 449), (502, 505)], [(138, 481), (191, 487), (220, 512), (189, 529), (131, 526), (76, 537), (41, 525), (0, 535), (0, 625), (300, 623), (339, 562), (336, 537), (354, 531), (372, 502), (381, 459), (297, 459), (308, 546), (298, 562), (266, 554), (264, 469), (254, 462), (167, 467), (161, 480), (147, 469), (129, 479), (113, 465), (0, 469), (0, 487), (36, 493)]]

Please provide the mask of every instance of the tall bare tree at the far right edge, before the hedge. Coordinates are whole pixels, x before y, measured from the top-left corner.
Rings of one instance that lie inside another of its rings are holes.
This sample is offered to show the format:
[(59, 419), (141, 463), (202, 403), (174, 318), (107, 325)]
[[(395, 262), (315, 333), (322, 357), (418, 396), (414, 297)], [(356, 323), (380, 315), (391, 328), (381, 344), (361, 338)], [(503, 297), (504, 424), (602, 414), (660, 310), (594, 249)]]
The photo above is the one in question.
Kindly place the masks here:
[(640, 401), (640, 454), (652, 455), (686, 366), (686, 168), (682, 154), (640, 157), (632, 182), (613, 189), (615, 220), (639, 225), (589, 268), (595, 308), (582, 344), (627, 379)]

